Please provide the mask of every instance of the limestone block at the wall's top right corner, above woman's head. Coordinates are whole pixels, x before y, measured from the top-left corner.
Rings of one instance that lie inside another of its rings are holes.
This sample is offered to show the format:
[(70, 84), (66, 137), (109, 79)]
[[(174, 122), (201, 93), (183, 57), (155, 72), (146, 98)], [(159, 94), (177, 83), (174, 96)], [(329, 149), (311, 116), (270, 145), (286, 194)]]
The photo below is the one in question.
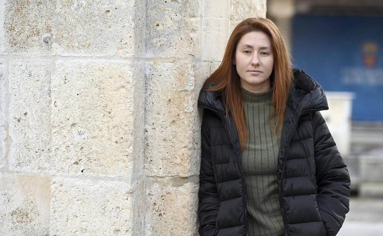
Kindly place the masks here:
[(266, 0), (231, 0), (230, 34), (237, 24), (250, 17), (266, 18)]

